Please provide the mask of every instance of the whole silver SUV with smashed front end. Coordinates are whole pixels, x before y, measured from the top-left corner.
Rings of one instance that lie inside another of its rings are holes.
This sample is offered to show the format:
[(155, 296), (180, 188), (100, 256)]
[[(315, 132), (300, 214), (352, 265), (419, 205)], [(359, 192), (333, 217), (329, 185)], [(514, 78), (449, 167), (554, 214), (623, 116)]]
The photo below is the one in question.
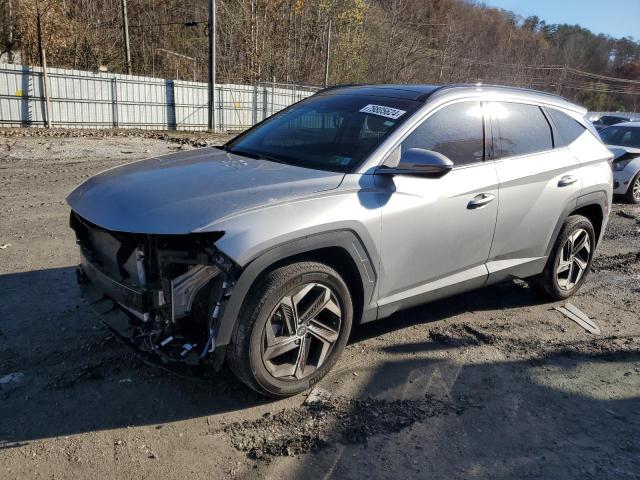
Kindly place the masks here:
[(226, 361), (292, 395), (355, 324), (514, 277), (575, 293), (612, 195), (585, 113), (505, 87), (323, 90), (223, 147), (79, 186), (78, 280), (147, 359)]

